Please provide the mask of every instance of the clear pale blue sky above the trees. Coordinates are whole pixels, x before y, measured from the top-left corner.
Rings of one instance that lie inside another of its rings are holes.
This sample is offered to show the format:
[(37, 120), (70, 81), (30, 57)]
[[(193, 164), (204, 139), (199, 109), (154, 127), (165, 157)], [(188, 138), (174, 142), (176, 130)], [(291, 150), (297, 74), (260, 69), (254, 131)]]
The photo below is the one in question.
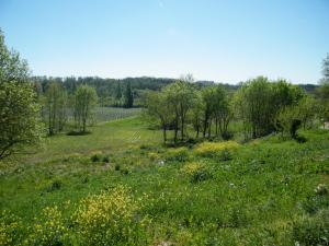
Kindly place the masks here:
[(35, 75), (317, 83), (329, 0), (0, 0)]

